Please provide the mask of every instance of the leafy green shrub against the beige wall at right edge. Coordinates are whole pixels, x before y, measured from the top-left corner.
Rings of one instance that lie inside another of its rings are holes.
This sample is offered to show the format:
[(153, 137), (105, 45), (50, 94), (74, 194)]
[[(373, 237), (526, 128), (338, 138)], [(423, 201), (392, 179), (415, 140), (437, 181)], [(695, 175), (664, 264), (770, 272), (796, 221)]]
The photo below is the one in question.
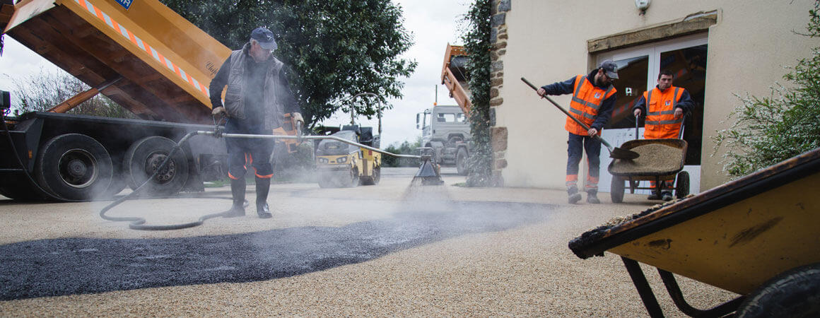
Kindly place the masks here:
[[(809, 11), (810, 38), (820, 37), (820, 1)], [(723, 170), (736, 179), (761, 168), (820, 147), (820, 48), (797, 61), (783, 76), (793, 85), (776, 84), (768, 97), (746, 96), (732, 111), (730, 129), (713, 137), (715, 152), (727, 147)]]

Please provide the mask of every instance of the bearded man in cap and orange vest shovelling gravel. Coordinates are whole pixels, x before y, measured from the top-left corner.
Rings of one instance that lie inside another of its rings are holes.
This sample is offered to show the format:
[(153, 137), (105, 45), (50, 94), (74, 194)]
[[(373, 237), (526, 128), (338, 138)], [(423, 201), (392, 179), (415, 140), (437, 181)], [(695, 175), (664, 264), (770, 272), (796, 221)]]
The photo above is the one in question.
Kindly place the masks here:
[(614, 61), (607, 60), (590, 74), (572, 76), (569, 80), (544, 85), (538, 89), (541, 97), (572, 93), (570, 114), (590, 127), (585, 129), (568, 116), (564, 125), (564, 129), (569, 132), (566, 184), (569, 196), (567, 201), (570, 203), (581, 200), (581, 193), (578, 193), (578, 164), (584, 150), (589, 166), (584, 184), (586, 202), (600, 203), (597, 194), (601, 142), (593, 136), (600, 136), (601, 129), (612, 117), (616, 98), (613, 80), (617, 80), (617, 65)]

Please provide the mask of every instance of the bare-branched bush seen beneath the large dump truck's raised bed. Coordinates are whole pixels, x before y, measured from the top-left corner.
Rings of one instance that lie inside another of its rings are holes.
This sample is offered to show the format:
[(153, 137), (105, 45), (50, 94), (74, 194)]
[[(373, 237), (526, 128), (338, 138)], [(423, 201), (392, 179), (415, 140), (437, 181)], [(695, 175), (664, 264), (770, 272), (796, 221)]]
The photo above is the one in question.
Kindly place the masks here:
[[(16, 114), (28, 111), (48, 111), (60, 102), (84, 92), (91, 87), (66, 72), (41, 69), (37, 75), (29, 75), (17, 82), (14, 94), (19, 102)], [(102, 117), (136, 118), (103, 94), (81, 103), (68, 111), (69, 114)]]

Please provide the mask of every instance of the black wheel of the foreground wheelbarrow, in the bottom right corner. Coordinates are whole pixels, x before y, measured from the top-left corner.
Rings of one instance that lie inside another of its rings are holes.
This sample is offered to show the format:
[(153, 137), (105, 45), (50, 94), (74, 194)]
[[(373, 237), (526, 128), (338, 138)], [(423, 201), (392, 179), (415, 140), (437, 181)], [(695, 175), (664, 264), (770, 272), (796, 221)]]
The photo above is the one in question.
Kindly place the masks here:
[(737, 317), (820, 316), (820, 263), (788, 270), (749, 294)]

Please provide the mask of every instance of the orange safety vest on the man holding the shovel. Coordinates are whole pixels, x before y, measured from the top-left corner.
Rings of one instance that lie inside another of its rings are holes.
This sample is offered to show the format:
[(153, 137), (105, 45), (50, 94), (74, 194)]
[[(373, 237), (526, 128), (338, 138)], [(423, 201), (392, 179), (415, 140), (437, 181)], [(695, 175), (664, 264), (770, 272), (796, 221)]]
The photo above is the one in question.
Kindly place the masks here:
[[(590, 81), (586, 80), (586, 75), (576, 76), (574, 90), (572, 102), (569, 103), (569, 113), (587, 126), (591, 126), (595, 121), (595, 117), (598, 117), (598, 109), (604, 103), (604, 99), (613, 96), (617, 92), (613, 85), (609, 85), (607, 90), (595, 87)], [(564, 129), (567, 129), (571, 134), (587, 135), (586, 129), (569, 117), (567, 117), (567, 124), (564, 125)], [(600, 134), (599, 130), (598, 135)]]

